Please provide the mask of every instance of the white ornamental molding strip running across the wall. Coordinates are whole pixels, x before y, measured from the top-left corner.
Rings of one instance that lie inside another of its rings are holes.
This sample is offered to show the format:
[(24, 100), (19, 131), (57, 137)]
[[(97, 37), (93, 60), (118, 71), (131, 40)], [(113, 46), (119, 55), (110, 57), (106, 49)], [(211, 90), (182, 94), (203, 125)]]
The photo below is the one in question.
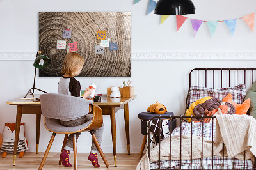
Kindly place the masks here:
[[(34, 60), (36, 53), (0, 53), (0, 60)], [(256, 52), (132, 52), (132, 60), (256, 60)]]

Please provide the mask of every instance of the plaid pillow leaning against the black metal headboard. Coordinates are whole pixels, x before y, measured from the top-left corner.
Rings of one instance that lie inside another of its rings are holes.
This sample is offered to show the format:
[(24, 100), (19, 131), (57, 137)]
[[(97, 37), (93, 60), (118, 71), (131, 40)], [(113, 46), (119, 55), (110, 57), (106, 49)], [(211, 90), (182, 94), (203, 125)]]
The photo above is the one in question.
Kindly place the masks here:
[(233, 88), (204, 88), (198, 86), (191, 86), (189, 89), (189, 105), (191, 105), (196, 100), (211, 96), (213, 98), (218, 98), (222, 100), (228, 93), (232, 94), (233, 102), (237, 104), (242, 104), (244, 102), (244, 97), (246, 95), (246, 86), (245, 84), (239, 84)]

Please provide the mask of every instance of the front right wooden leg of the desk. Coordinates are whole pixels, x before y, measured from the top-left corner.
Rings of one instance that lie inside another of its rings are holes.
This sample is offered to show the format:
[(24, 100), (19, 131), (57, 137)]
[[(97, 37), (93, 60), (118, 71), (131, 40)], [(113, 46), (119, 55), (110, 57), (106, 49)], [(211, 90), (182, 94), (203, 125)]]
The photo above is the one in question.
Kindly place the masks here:
[(112, 143), (113, 143), (113, 155), (114, 155), (114, 162), (116, 167), (116, 111), (115, 107), (111, 107), (111, 132), (112, 132)]

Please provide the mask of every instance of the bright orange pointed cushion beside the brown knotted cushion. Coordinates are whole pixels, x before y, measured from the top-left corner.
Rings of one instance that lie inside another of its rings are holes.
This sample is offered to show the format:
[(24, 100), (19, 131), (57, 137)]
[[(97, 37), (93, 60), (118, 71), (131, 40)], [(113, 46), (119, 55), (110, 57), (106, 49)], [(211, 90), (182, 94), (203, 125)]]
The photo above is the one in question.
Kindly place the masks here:
[(243, 104), (236, 104), (234, 102), (232, 102), (232, 95), (231, 93), (229, 93), (226, 97), (223, 98), (222, 100), (223, 102), (229, 102), (230, 104), (234, 105), (235, 109), (236, 109), (236, 114), (246, 114), (249, 107), (250, 107), (250, 102), (251, 99), (248, 98), (247, 100), (245, 100), (243, 102)]

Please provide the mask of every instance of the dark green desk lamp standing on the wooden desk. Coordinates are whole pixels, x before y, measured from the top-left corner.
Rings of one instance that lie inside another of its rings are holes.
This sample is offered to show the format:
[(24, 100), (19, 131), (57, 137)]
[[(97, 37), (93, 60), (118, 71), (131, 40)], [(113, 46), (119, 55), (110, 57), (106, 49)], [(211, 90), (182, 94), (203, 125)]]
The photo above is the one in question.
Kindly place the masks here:
[[(45, 56), (44, 54), (42, 54), (41, 51), (38, 51), (36, 53), (36, 59), (34, 61), (34, 67), (35, 67), (35, 75), (34, 75), (34, 84), (33, 84), (33, 88), (29, 89), (28, 93), (25, 95), (24, 98), (26, 98), (29, 94), (31, 94), (34, 97), (34, 90), (37, 89), (38, 91), (42, 91), (44, 93), (47, 93), (46, 91), (43, 91), (42, 89), (38, 89), (35, 88), (35, 82), (36, 82), (36, 68), (40, 69), (40, 68), (45, 68), (47, 66), (49, 66), (51, 64), (51, 59), (49, 59), (47, 56)], [(31, 92), (31, 90), (33, 90)]]

